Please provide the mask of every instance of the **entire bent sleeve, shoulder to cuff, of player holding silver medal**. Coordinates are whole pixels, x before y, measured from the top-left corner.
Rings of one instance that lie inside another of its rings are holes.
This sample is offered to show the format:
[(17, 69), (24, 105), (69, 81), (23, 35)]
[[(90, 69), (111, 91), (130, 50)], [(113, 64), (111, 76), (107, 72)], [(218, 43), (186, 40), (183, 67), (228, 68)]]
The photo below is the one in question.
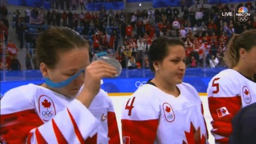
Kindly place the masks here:
[(12, 89), (5, 93), (1, 99), (1, 143), (83, 143), (100, 127), (76, 99), (46, 123), (35, 107), (35, 99), (29, 92)]

